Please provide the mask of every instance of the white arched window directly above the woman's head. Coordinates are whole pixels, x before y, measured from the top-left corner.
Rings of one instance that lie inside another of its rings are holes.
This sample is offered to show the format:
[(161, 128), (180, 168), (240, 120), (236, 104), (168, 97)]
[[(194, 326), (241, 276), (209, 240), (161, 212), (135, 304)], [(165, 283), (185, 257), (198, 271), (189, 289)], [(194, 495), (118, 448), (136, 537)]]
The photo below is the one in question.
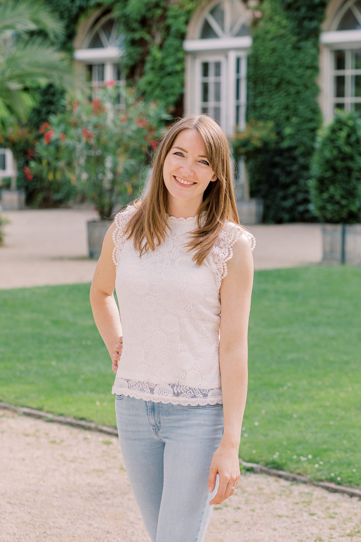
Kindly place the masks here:
[(231, 135), (245, 126), (252, 11), (242, 0), (215, 0), (188, 26), (185, 113), (208, 113)]

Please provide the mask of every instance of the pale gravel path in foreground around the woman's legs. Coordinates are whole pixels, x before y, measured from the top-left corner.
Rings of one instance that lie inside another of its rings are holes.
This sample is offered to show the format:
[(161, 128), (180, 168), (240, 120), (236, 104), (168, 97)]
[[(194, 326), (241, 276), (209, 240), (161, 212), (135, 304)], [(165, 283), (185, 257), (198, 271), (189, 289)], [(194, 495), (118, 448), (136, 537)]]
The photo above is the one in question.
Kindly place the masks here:
[[(149, 542), (116, 437), (6, 410), (0, 435), (0, 542)], [(251, 473), (214, 507), (205, 538), (348, 540), (361, 541), (359, 499)]]

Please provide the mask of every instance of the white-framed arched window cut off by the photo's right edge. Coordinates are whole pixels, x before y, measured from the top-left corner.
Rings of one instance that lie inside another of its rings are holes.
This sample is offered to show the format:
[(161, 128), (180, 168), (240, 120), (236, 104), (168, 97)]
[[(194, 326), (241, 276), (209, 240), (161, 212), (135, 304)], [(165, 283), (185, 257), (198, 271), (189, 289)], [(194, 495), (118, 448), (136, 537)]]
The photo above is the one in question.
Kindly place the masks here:
[(335, 109), (361, 113), (361, 0), (335, 6), (330, 29), (320, 38), (325, 47), (326, 120)]

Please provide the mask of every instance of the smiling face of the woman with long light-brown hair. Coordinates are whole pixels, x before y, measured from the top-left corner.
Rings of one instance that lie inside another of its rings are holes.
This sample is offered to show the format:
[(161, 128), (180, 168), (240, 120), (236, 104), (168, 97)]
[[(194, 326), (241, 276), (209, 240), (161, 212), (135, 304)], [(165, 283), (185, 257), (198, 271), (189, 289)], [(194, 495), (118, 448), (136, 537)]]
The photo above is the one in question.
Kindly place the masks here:
[(176, 136), (163, 165), (163, 179), (170, 209), (185, 202), (196, 214), (209, 182), (216, 180), (196, 130), (183, 130)]

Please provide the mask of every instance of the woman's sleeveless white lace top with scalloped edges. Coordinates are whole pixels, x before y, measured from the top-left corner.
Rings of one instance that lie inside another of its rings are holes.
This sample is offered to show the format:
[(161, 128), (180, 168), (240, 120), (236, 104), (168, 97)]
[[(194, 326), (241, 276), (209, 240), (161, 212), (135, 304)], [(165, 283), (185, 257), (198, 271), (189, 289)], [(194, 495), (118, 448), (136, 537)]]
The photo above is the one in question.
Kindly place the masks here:
[(113, 260), (123, 351), (112, 393), (162, 403), (222, 403), (219, 370), (220, 286), (244, 228), (228, 222), (199, 267), (183, 244), (196, 217), (167, 215), (165, 241), (140, 258), (124, 227), (133, 205), (115, 217)]

